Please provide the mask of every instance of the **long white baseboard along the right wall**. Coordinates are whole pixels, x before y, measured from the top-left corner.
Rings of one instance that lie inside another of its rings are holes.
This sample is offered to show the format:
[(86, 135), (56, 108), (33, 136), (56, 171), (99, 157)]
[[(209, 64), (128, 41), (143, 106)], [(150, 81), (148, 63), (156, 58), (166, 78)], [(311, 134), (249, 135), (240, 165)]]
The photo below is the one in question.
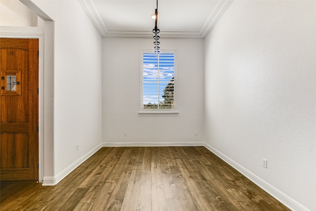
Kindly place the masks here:
[(289, 208), (292, 211), (310, 211), (300, 203), (296, 202), (280, 190), (276, 189), (274, 186), (266, 182), (265, 180), (261, 179), (259, 176), (255, 175), (248, 169), (245, 169), (244, 167), (237, 164), (235, 161), (221, 153), (220, 151), (216, 150), (212, 146), (210, 146), (207, 143), (204, 143), (204, 146), (214, 153), (216, 156), (218, 156), (220, 159), (225, 161), (227, 164), (229, 164), (231, 167), (239, 171), (241, 174), (243, 174), (245, 177), (250, 179), (253, 183), (258, 185), (260, 188), (262, 188), (264, 191), (269, 193), (271, 196), (273, 196), (276, 200), (278, 200), (280, 203), (282, 203), (284, 206)]

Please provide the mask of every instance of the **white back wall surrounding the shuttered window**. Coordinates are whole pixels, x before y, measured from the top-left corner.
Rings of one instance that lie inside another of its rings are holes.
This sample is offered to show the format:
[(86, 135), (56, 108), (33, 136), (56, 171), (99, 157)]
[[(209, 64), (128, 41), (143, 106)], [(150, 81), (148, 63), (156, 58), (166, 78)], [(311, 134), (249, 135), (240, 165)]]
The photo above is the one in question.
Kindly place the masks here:
[[(162, 36), (161, 36), (162, 37)], [(140, 49), (153, 39), (103, 39), (103, 142), (106, 145), (186, 144), (203, 141), (203, 40), (160, 39), (176, 49), (179, 116), (139, 116)], [(127, 136), (124, 136), (124, 132)], [(195, 136), (197, 131), (197, 136)], [(185, 143), (186, 142), (186, 143)]]

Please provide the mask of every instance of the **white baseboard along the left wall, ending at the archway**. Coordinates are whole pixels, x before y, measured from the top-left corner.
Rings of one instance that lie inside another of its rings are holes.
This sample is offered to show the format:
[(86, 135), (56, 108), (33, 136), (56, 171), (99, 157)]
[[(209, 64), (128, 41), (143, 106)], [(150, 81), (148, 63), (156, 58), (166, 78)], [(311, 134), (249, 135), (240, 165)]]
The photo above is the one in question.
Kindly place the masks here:
[(77, 161), (75, 161), (72, 165), (58, 173), (56, 176), (44, 176), (43, 178), (43, 186), (53, 186), (58, 184), (63, 178), (65, 178), (68, 174), (70, 174), (73, 170), (79, 167), (84, 161), (90, 158), (94, 153), (96, 153), (99, 149), (101, 149), (102, 144), (94, 147), (88, 153), (80, 157)]

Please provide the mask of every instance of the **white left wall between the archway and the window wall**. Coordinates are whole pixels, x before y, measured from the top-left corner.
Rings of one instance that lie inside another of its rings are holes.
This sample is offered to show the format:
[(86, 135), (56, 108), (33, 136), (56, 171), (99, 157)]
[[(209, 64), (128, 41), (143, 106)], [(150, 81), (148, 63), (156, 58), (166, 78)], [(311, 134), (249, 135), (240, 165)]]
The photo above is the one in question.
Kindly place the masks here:
[(45, 163), (52, 175), (44, 172), (51, 185), (101, 147), (102, 38), (77, 1), (33, 2), (54, 21), (53, 119), (45, 122), (54, 128), (46, 143), (54, 161)]

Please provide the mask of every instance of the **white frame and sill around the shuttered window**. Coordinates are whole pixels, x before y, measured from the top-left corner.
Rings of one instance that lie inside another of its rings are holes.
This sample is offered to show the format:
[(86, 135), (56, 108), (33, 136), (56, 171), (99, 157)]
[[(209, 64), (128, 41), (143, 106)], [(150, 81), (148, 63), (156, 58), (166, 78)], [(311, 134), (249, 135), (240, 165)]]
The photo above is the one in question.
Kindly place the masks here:
[(140, 111), (139, 116), (178, 116), (177, 111), (177, 50), (161, 50), (160, 53), (174, 54), (174, 108), (149, 109), (143, 105), (143, 58), (144, 53), (155, 53), (155, 50), (141, 50), (140, 52)]

